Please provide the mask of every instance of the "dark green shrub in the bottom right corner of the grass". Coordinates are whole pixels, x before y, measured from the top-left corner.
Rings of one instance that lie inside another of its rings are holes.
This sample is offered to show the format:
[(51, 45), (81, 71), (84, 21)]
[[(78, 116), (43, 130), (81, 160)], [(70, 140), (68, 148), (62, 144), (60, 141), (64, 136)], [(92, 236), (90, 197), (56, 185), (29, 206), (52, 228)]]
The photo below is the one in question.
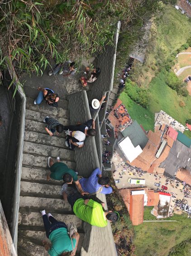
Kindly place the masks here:
[(191, 239), (186, 239), (171, 248), (168, 256), (186, 256), (188, 250), (191, 250)]

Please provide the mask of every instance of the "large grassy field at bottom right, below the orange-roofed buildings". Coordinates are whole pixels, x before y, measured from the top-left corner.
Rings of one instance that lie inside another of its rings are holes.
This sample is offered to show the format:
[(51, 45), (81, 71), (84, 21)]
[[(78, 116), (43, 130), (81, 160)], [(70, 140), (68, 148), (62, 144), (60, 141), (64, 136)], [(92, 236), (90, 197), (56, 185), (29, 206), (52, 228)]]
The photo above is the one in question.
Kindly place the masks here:
[(177, 222), (143, 222), (134, 226), (136, 256), (167, 256), (173, 246), (191, 237), (191, 220), (187, 216), (175, 215), (170, 220)]

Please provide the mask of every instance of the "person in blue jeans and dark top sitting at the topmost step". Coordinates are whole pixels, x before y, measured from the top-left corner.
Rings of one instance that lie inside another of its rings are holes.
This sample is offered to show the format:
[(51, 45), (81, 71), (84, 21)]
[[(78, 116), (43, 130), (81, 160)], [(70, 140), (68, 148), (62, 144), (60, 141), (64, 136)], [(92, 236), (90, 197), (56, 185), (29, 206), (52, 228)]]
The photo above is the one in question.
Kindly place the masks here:
[(59, 100), (59, 97), (57, 94), (54, 93), (52, 89), (38, 87), (37, 90), (39, 90), (39, 93), (36, 100), (34, 100), (34, 105), (39, 105), (42, 103), (43, 100), (45, 100), (46, 103), (50, 106), (58, 106), (57, 102)]

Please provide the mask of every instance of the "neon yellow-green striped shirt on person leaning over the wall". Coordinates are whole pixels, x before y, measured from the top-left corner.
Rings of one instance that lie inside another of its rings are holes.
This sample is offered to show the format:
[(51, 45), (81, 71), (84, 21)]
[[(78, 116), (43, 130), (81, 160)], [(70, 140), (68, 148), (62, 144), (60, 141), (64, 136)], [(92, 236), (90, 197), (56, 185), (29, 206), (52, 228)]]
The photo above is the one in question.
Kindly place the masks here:
[(85, 205), (83, 199), (78, 199), (73, 206), (73, 211), (78, 218), (88, 222), (92, 226), (107, 226), (107, 220), (102, 205), (92, 199), (88, 201), (87, 205)]

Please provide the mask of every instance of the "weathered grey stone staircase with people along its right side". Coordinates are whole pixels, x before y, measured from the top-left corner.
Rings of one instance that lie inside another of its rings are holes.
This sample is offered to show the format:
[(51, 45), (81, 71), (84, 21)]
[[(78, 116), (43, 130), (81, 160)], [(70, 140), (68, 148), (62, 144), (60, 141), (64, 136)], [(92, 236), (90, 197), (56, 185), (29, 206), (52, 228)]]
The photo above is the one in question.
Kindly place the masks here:
[(47, 159), (60, 160), (75, 170), (74, 151), (65, 146), (65, 134), (49, 136), (45, 131), (43, 119), (51, 116), (63, 125), (69, 125), (67, 100), (62, 100), (58, 108), (48, 107), (44, 103), (33, 105), (33, 99), (27, 98), (25, 114), (25, 134), (23, 149), (23, 165), (19, 202), (18, 255), (45, 256), (48, 253), (42, 246), (46, 239), (43, 219), (40, 210), (51, 212), (58, 221), (74, 222), (80, 233), (80, 241), (76, 255), (80, 255), (84, 239), (82, 221), (72, 214), (71, 206), (62, 200), (59, 191), (61, 181), (46, 180), (48, 172)]

